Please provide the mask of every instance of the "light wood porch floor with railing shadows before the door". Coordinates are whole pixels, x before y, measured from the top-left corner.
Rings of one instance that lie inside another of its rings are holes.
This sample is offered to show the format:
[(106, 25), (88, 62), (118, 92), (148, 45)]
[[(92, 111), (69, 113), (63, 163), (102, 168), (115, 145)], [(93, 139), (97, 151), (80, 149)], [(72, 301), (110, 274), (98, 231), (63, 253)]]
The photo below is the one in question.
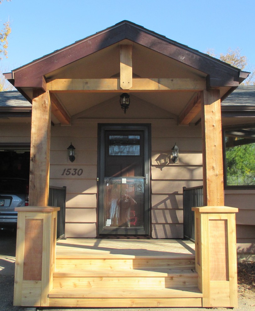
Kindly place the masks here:
[(194, 258), (191, 241), (68, 238), (57, 241), (57, 258)]

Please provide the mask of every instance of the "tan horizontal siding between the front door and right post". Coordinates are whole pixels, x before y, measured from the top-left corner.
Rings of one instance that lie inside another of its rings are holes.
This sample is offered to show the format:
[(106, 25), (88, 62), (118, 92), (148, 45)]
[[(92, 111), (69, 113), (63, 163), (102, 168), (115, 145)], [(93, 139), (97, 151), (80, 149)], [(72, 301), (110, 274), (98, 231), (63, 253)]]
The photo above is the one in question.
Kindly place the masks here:
[[(175, 143), (179, 158), (173, 163)], [(158, 166), (156, 159), (162, 154), (170, 155), (170, 162)], [(182, 238), (182, 187), (203, 184), (201, 127), (152, 123), (151, 163), (152, 237)]]

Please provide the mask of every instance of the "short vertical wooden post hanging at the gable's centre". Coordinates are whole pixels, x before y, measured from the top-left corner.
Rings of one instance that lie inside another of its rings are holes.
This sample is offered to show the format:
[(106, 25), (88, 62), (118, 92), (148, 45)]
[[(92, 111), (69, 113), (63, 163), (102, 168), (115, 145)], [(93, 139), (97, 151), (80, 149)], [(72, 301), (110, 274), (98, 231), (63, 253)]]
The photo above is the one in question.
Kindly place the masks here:
[(120, 45), (120, 86), (123, 90), (132, 87), (132, 45)]

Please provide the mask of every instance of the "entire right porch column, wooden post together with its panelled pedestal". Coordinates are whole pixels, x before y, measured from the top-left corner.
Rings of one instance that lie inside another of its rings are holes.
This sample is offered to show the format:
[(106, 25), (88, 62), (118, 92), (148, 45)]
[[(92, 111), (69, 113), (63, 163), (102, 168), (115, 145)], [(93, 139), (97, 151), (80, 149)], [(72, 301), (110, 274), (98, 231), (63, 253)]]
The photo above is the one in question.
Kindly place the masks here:
[(203, 207), (195, 207), (195, 253), (203, 307), (237, 307), (236, 208), (224, 206), (220, 91), (202, 102)]

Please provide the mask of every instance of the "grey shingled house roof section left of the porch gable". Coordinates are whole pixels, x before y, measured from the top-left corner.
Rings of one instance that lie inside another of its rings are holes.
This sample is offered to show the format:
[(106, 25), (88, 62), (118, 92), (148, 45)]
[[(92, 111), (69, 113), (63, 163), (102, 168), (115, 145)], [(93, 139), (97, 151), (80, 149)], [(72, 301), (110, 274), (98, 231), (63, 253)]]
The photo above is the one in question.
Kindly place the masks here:
[(31, 107), (19, 91), (3, 91), (0, 92), (0, 107)]

